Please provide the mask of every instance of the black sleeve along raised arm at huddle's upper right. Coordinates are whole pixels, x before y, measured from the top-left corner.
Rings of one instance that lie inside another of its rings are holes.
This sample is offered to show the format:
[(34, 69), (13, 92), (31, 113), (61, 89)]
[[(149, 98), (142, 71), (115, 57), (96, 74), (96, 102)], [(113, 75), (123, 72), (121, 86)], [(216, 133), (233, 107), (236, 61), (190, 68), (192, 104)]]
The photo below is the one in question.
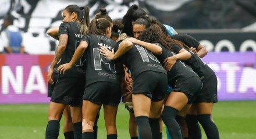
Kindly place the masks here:
[(175, 34), (170, 36), (170, 38), (181, 41), (184, 44), (186, 44), (188, 47), (194, 47), (195, 49), (197, 49), (198, 45), (200, 44), (194, 37), (187, 34)]

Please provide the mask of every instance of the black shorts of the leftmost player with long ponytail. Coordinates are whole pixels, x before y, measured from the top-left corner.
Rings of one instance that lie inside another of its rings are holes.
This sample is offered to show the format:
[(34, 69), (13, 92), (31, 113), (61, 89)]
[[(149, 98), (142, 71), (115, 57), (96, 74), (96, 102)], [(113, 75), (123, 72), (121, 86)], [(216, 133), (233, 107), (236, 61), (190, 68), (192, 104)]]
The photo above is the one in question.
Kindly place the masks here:
[(59, 78), (52, 92), (51, 101), (70, 106), (82, 106), (85, 77)]

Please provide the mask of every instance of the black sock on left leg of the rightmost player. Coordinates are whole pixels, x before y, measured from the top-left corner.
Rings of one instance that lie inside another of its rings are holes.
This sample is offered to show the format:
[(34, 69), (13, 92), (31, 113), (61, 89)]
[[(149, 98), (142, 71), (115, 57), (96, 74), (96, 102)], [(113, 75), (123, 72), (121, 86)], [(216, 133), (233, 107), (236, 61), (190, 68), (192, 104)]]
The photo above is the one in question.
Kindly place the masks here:
[(186, 115), (187, 129), (189, 130), (189, 138), (201, 139), (202, 133), (198, 124), (196, 115)]

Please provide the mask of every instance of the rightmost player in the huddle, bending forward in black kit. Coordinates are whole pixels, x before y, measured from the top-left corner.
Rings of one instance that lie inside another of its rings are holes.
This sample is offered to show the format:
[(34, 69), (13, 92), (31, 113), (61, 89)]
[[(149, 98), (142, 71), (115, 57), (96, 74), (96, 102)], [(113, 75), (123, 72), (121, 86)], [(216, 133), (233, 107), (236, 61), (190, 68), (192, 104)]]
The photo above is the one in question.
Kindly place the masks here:
[[(171, 38), (183, 41), (185, 44), (189, 44), (191, 47), (200, 47), (199, 42), (195, 41), (193, 38), (187, 36), (186, 34), (173, 35)], [(198, 49), (197, 48), (197, 49)], [(201, 47), (202, 48), (202, 47)], [(180, 48), (174, 49), (178, 52)], [(186, 48), (189, 50), (189, 48)], [(196, 54), (192, 54), (191, 58), (185, 60), (187, 65), (190, 65), (195, 73), (200, 77), (203, 86), (200, 94), (198, 94), (197, 99), (193, 102), (193, 106), (187, 113), (186, 122), (189, 129), (189, 137), (191, 138), (201, 138), (200, 127), (197, 123), (200, 122), (201, 126), (205, 130), (207, 138), (219, 138), (219, 131), (216, 124), (213, 122), (211, 113), (215, 102), (218, 102), (217, 97), (217, 79), (214, 71), (206, 65), (199, 56), (206, 55), (204, 49), (198, 51)]]

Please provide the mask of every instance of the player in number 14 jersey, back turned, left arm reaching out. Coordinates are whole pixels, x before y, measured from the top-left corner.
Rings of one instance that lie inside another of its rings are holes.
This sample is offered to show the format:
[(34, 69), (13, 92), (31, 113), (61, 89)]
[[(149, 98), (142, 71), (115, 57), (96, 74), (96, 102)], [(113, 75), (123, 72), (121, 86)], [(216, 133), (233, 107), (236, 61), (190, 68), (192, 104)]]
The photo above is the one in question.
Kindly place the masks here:
[(69, 63), (58, 67), (60, 73), (68, 72), (84, 54), (86, 57), (86, 88), (83, 95), (83, 135), (94, 138), (93, 125), (99, 108), (103, 104), (108, 139), (117, 138), (116, 113), (121, 98), (120, 67), (99, 54), (99, 47), (111, 50), (116, 42), (110, 39), (111, 23), (104, 19), (93, 19), (90, 35), (80, 40), (79, 47)]

